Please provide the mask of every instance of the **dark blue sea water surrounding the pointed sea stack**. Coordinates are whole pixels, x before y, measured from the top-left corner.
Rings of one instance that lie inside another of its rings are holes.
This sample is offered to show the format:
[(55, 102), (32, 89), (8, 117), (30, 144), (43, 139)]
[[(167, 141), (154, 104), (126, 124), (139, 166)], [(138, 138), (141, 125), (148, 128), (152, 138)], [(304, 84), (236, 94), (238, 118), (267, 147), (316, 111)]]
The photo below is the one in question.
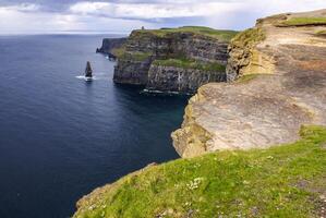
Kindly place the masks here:
[[(112, 83), (106, 36), (0, 36), (0, 218), (64, 218), (93, 189), (177, 158), (182, 97)], [(96, 80), (76, 76), (93, 64)]]

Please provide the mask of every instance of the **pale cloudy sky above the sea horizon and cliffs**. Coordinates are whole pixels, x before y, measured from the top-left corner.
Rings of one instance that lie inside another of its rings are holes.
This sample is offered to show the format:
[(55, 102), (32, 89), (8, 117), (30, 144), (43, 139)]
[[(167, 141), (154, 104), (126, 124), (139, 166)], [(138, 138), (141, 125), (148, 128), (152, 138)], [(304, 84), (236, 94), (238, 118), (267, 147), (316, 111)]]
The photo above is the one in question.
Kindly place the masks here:
[(0, 34), (128, 34), (185, 25), (241, 31), (267, 15), (318, 9), (326, 0), (0, 0)]

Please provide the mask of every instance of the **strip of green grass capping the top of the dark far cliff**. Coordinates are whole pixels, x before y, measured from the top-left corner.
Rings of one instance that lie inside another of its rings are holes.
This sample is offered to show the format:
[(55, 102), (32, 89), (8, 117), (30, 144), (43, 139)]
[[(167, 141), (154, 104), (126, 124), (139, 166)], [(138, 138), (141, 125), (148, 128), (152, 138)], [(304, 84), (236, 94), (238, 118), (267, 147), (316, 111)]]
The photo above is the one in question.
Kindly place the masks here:
[(195, 35), (203, 35), (214, 39), (220, 39), (224, 41), (231, 40), (238, 34), (238, 32), (236, 31), (220, 31), (220, 29), (214, 29), (204, 26), (183, 26), (179, 28), (138, 29), (134, 32), (133, 35), (140, 37), (143, 34), (148, 34), (148, 33), (154, 34), (158, 37), (166, 37), (168, 34), (173, 34), (173, 33), (192, 33)]

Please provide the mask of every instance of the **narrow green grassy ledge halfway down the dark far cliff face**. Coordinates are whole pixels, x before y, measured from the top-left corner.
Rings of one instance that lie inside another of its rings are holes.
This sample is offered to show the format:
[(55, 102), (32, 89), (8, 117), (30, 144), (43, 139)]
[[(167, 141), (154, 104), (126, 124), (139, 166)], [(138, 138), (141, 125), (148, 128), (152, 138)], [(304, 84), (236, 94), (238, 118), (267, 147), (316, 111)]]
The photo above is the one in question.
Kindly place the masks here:
[(213, 72), (225, 72), (226, 66), (220, 63), (203, 63), (196, 60), (189, 59), (168, 59), (168, 60), (156, 60), (154, 61), (155, 65), (164, 66), (176, 66), (182, 69), (195, 69), (203, 71), (213, 71)]

